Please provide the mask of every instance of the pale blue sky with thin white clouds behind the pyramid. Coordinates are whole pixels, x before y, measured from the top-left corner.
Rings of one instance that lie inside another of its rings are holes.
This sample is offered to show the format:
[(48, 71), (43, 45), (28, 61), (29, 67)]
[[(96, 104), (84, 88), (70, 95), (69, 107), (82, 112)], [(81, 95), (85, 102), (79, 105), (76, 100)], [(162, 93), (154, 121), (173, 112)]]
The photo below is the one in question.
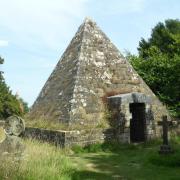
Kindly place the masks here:
[(0, 0), (0, 7), (0, 70), (29, 105), (85, 17), (133, 54), (158, 22), (180, 18), (180, 0)]

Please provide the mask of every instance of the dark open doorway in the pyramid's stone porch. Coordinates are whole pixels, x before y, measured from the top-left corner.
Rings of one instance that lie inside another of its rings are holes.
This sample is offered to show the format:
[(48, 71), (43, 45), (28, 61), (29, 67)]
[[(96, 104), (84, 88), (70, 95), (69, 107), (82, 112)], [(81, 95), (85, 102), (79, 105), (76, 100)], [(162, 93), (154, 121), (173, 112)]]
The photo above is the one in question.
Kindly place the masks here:
[(145, 104), (130, 104), (132, 119), (130, 120), (130, 140), (131, 142), (144, 142), (146, 140), (146, 120)]

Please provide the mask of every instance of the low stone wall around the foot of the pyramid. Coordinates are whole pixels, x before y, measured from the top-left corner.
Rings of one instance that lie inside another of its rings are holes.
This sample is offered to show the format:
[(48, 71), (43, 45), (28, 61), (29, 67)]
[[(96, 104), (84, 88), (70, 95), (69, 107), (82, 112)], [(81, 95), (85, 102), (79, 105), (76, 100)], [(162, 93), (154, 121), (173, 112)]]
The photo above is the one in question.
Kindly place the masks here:
[(32, 138), (49, 142), (60, 147), (71, 147), (73, 145), (85, 146), (88, 144), (112, 141), (115, 139), (115, 133), (113, 129), (53, 131), (26, 127), (22, 136), (25, 138)]

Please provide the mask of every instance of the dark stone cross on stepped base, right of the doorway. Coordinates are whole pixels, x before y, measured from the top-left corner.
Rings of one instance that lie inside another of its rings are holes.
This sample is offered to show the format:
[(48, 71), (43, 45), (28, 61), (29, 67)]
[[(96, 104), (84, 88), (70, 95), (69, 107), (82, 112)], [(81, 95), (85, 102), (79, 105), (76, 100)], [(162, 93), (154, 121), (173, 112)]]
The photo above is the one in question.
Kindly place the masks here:
[(163, 128), (163, 144), (160, 146), (159, 153), (160, 154), (172, 153), (173, 150), (168, 142), (168, 126), (172, 125), (172, 122), (167, 120), (167, 116), (163, 116), (162, 121), (159, 121), (158, 125), (161, 125)]

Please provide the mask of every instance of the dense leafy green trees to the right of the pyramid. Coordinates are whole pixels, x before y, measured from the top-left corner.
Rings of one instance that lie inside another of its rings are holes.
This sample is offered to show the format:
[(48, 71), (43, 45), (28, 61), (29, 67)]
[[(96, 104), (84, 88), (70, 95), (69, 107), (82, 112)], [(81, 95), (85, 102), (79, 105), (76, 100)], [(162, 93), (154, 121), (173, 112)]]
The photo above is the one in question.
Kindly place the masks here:
[(148, 40), (141, 39), (138, 51), (127, 58), (171, 114), (180, 117), (180, 21), (158, 23)]

